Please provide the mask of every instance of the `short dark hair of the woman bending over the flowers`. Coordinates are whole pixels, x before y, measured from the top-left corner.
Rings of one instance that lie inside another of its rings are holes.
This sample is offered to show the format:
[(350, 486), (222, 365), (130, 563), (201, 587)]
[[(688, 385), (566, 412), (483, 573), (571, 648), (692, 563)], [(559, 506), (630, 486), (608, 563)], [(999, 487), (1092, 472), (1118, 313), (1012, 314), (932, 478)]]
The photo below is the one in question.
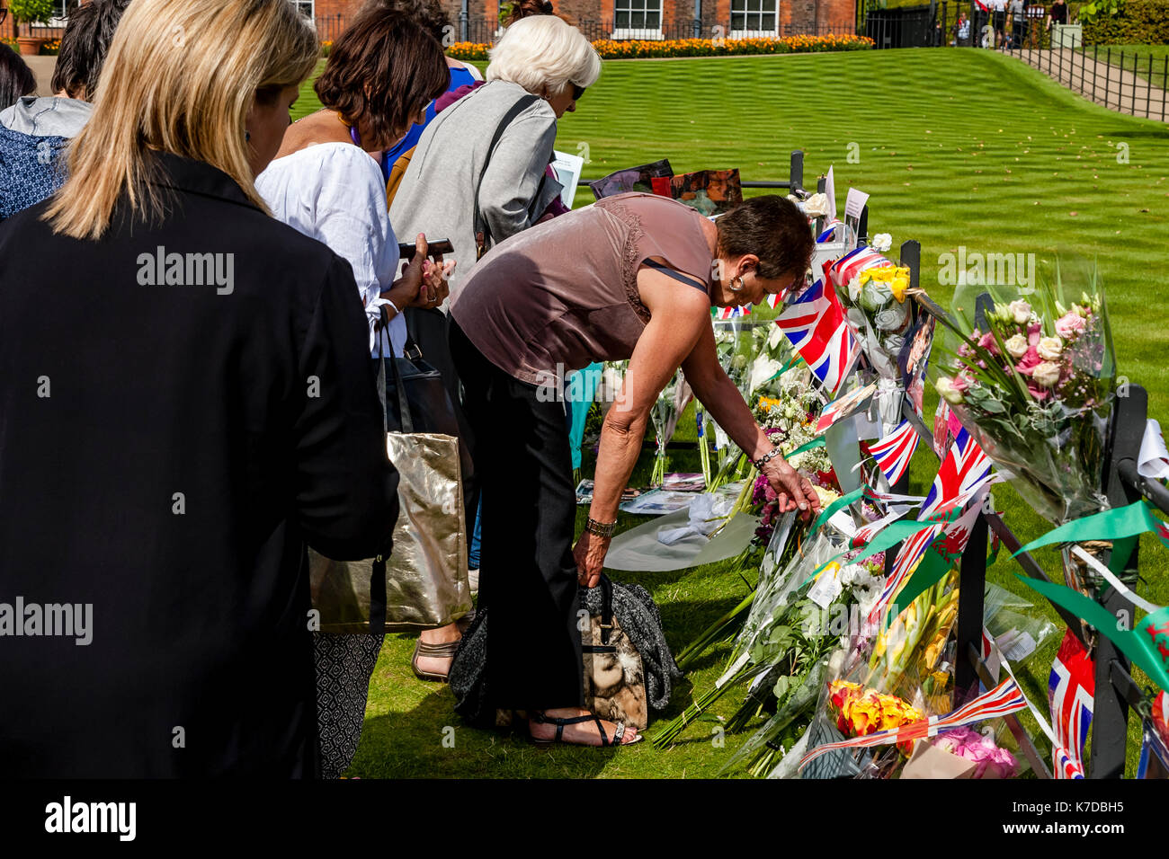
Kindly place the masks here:
[(808, 216), (787, 198), (752, 198), (714, 223), (719, 228), (719, 256), (754, 254), (759, 257), (759, 277), (774, 280), (801, 276), (811, 264), (815, 242)]

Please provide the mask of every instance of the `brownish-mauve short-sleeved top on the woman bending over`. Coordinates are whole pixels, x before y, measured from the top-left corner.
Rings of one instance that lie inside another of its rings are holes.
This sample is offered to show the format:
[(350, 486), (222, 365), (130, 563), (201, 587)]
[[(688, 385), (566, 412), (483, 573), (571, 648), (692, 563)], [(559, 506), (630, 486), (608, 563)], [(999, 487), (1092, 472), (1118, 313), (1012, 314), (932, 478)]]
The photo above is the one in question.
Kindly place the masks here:
[(650, 318), (637, 291), (648, 257), (710, 296), (704, 220), (655, 194), (599, 200), (492, 248), (459, 284), (451, 316), (484, 358), (530, 385), (554, 377), (558, 365), (567, 373), (625, 360)]

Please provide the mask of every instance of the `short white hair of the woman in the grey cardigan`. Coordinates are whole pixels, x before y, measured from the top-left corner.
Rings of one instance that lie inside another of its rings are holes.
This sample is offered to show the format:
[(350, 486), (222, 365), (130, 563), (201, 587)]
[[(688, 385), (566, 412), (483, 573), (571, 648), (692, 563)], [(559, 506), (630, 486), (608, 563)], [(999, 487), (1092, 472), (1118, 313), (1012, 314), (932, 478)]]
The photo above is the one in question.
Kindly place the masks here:
[(601, 76), (601, 57), (584, 35), (555, 15), (532, 15), (509, 27), (487, 51), (489, 81), (510, 81), (539, 95), (574, 83), (592, 86)]

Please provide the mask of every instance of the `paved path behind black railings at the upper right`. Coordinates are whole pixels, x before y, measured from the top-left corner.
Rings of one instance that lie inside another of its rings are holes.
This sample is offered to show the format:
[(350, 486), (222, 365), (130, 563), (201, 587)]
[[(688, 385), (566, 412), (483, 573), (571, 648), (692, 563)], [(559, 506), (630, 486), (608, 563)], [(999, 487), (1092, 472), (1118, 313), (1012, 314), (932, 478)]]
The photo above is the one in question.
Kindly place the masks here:
[[(1109, 65), (1104, 61), (1104, 54), (1093, 60), (1091, 53), (1085, 54), (1072, 48), (1008, 53), (1097, 104), (1134, 117), (1169, 120), (1169, 93), (1151, 85), (1140, 75)], [(1126, 51), (1126, 64), (1130, 56)], [(1119, 53), (1113, 51), (1112, 58), (1119, 63)], [(1158, 71), (1158, 65), (1161, 63), (1154, 60), (1154, 74)]]

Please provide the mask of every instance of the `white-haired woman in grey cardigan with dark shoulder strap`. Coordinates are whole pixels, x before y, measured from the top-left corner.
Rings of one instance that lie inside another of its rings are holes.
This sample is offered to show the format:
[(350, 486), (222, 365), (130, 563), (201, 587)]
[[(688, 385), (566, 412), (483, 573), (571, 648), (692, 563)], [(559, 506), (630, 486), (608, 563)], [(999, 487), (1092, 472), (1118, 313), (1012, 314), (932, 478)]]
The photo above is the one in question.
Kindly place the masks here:
[[(540, 220), (561, 192), (559, 182), (545, 175), (556, 119), (575, 110), (576, 99), (601, 75), (601, 58), (589, 41), (552, 15), (517, 21), (490, 56), (487, 83), (427, 125), (389, 209), (397, 235), (424, 231), (435, 238), (450, 238), (457, 263), (450, 279), (452, 297), (476, 262), (476, 189), (486, 247)], [(528, 103), (505, 123), (521, 102)], [(492, 148), (497, 130), (500, 133)], [(447, 346), (444, 312), (411, 307), (406, 311), (406, 321), (457, 402), (458, 377)], [(464, 421), (461, 424), (465, 427)], [(473, 477), (466, 497), (468, 527), (472, 527)], [(458, 638), (454, 625), (423, 632), (414, 653), (415, 674), (423, 679), (445, 677)]]

